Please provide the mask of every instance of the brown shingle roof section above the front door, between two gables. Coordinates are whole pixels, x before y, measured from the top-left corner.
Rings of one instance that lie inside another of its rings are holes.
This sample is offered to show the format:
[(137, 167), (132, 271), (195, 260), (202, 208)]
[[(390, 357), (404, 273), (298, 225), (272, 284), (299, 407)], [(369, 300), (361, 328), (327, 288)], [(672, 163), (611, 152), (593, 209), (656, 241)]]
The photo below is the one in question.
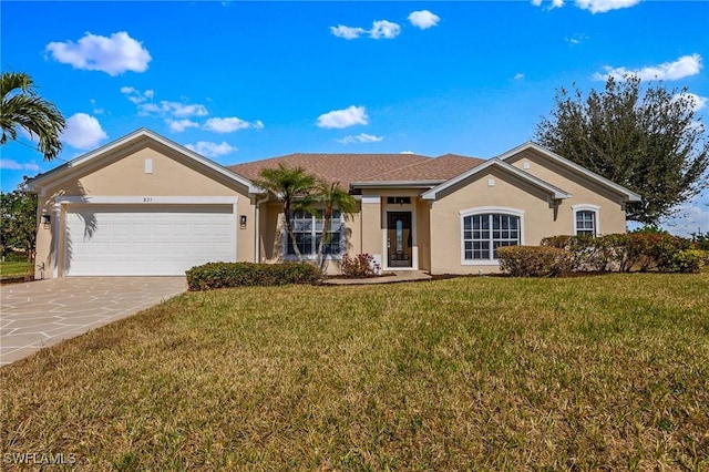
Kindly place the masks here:
[(483, 163), (483, 160), (445, 154), (288, 154), (228, 166), (246, 178), (257, 179), (261, 170), (285, 164), (302, 167), (326, 182), (349, 188), (352, 182), (448, 181)]

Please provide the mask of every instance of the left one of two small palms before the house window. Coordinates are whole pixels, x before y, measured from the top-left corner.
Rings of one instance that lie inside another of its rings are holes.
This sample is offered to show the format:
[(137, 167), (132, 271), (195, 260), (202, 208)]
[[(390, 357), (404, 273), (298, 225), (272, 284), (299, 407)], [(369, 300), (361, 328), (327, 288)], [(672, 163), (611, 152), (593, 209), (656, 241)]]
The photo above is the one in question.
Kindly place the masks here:
[(263, 170), (260, 176), (261, 178), (254, 181), (254, 183), (282, 203), (286, 232), (288, 232), (296, 256), (300, 258), (290, 212), (310, 208), (316, 188), (316, 177), (308, 174), (302, 167), (288, 167), (282, 163), (278, 164), (278, 167)]

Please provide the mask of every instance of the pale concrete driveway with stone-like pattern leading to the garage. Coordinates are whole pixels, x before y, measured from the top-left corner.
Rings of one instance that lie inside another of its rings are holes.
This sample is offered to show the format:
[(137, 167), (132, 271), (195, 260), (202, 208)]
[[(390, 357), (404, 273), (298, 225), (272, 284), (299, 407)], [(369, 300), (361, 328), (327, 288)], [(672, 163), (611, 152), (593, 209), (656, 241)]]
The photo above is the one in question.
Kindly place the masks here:
[(0, 366), (187, 289), (185, 277), (66, 277), (0, 287)]

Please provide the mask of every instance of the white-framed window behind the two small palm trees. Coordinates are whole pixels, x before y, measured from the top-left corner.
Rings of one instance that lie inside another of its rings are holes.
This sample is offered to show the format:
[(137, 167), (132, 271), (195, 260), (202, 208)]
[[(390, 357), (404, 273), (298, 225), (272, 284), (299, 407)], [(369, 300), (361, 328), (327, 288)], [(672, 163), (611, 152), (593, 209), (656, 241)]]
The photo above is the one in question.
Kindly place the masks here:
[[(315, 214), (309, 212), (292, 212), (290, 224), (292, 225), (292, 232), (296, 235), (300, 254), (302, 256), (316, 256), (323, 234), (323, 211), (319, 209)], [(325, 244), (322, 254), (327, 256), (339, 256), (341, 254), (340, 248), (342, 247), (342, 215), (339, 209), (332, 211), (330, 228), (325, 230), (325, 234), (329, 235), (329, 240)], [(286, 254), (288, 256), (295, 256), (296, 250), (292, 246), (292, 240), (287, 234), (285, 236)]]

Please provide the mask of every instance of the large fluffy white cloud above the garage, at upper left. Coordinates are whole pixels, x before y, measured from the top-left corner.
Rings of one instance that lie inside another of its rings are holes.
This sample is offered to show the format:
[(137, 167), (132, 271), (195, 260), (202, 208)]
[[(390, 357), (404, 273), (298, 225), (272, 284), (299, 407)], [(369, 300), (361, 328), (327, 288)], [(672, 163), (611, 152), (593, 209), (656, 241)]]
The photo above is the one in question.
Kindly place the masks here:
[(50, 42), (47, 51), (52, 58), (74, 69), (102, 71), (115, 76), (126, 71), (145, 72), (152, 58), (143, 45), (125, 31), (110, 38), (86, 33), (76, 43)]

